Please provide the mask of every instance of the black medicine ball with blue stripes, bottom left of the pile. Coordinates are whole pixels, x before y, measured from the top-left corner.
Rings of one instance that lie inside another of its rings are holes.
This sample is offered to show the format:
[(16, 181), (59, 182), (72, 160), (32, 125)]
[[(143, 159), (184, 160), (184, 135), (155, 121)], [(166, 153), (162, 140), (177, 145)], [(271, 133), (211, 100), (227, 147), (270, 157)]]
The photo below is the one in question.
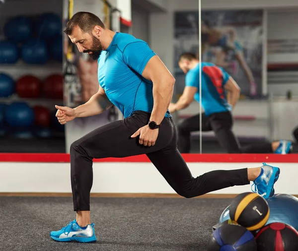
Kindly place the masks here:
[(224, 224), (212, 233), (207, 251), (257, 251), (257, 243), (245, 227)]

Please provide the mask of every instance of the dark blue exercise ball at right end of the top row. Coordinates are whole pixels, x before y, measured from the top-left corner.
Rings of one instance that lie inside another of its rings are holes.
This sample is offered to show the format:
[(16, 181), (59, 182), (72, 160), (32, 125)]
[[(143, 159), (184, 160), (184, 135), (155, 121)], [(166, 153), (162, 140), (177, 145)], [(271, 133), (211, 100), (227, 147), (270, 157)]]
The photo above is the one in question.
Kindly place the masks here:
[(37, 36), (51, 39), (62, 31), (62, 18), (54, 13), (44, 13), (36, 21)]

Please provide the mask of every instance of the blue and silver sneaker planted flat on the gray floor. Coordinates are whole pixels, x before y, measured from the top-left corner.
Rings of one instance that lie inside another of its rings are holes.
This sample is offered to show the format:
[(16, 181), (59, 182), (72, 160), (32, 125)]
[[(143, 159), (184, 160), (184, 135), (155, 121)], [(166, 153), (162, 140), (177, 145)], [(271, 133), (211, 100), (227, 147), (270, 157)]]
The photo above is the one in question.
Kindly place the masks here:
[(96, 236), (93, 227), (94, 224), (92, 223), (81, 228), (74, 220), (59, 231), (52, 231), (50, 236), (53, 240), (58, 242), (96, 242)]

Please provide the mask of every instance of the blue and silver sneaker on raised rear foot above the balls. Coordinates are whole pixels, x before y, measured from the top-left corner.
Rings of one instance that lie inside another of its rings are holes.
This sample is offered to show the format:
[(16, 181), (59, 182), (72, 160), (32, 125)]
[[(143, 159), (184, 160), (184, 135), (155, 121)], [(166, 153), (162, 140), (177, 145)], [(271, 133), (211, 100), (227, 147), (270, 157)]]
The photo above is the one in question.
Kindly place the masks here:
[(252, 184), (252, 186), (255, 186), (254, 190), (251, 190), (253, 192), (258, 192), (265, 199), (273, 196), (273, 186), (277, 182), (279, 175), (280, 169), (278, 167), (272, 167), (263, 163), (259, 177), (255, 179)]

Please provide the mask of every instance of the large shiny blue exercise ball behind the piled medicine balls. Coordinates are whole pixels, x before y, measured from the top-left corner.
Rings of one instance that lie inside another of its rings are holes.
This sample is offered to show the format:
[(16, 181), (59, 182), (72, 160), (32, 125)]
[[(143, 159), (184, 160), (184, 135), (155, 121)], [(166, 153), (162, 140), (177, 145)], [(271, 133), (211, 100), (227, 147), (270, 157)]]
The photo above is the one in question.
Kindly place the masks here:
[[(291, 194), (275, 194), (266, 199), (270, 209), (267, 226), (270, 223), (280, 222), (294, 227), (298, 231), (298, 198)], [(229, 220), (229, 206), (224, 209), (219, 224)]]

